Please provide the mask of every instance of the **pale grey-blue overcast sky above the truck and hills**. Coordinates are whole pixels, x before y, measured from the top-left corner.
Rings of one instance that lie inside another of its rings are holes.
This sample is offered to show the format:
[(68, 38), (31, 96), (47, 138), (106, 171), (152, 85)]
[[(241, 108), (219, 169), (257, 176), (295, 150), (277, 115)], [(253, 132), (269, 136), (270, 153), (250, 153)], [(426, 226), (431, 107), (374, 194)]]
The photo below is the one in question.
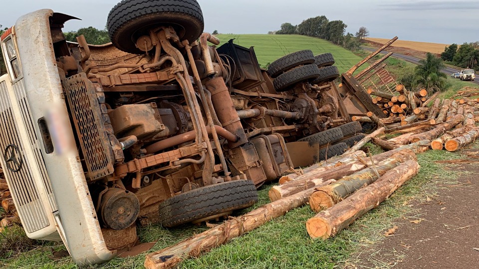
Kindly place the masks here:
[[(110, 9), (119, 0), (15, 0), (0, 11), (3, 27), (20, 15), (51, 8), (81, 18), (70, 21), (65, 30), (94, 26), (104, 28)], [(221, 33), (267, 33), (281, 23), (299, 24), (304, 19), (325, 15), (341, 19), (347, 31), (366, 26), (371, 37), (437, 43), (478, 41), (477, 0), (198, 0), (205, 16), (205, 31)], [(68, 3), (67, 3), (68, 2)], [(14, 3), (14, 4), (12, 4)]]

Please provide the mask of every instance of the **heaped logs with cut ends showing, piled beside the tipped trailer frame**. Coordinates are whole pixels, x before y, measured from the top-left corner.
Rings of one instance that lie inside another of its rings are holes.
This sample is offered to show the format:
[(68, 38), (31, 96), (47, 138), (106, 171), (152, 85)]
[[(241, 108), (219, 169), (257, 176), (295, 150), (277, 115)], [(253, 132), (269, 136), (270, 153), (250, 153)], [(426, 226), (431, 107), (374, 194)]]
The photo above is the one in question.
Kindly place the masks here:
[(416, 108), (421, 107), (428, 100), (426, 89), (412, 92), (399, 84), (396, 86), (396, 91), (396, 95), (373, 89), (368, 89), (367, 92), (371, 95), (373, 103), (377, 104), (388, 117), (404, 117)]

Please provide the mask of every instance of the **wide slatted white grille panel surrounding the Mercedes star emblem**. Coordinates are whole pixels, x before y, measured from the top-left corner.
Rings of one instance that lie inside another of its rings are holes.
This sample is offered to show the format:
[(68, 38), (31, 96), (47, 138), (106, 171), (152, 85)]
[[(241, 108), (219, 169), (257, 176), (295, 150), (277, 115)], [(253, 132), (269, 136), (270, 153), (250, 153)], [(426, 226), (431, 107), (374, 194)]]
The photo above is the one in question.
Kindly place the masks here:
[(17, 172), (5, 169), (6, 180), (10, 185), (10, 193), (15, 201), (16, 210), (22, 218), (25, 231), (33, 233), (49, 226), (45, 207), (40, 200), (38, 189), (33, 181), (31, 165), (24, 154), (24, 145), (21, 141), (18, 129), (15, 124), (10, 98), (7, 92), (6, 83), (0, 83), (0, 157), (5, 164), (3, 151), (8, 145), (15, 145), (19, 149), (19, 156), (22, 158), (21, 168)]

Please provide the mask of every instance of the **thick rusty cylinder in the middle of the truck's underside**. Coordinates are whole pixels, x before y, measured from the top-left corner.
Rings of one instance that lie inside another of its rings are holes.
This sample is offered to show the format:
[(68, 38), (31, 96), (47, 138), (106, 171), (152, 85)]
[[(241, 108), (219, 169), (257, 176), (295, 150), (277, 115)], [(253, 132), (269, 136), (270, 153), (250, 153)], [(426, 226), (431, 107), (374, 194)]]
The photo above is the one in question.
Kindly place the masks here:
[(238, 117), (238, 113), (231, 100), (230, 92), (223, 78), (214, 78), (205, 85), (211, 92), (213, 105), (223, 127), (240, 137), (240, 139), (235, 142), (229, 140), (230, 147), (246, 143), (248, 139), (244, 133), (240, 117)]

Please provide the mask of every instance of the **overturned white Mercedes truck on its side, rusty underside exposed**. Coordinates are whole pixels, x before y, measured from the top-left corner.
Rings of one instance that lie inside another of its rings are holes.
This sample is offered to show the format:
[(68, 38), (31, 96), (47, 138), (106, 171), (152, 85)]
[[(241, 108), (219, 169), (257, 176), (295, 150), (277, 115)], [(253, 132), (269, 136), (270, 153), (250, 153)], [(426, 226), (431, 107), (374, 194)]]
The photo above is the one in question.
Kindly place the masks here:
[(70, 19), (42, 9), (1, 36), (0, 161), (27, 235), (63, 241), (79, 265), (134, 244), (137, 225), (247, 208), (362, 138), (329, 53), (263, 70), (252, 47), (203, 33), (196, 0), (122, 1), (101, 46), (67, 42)]

